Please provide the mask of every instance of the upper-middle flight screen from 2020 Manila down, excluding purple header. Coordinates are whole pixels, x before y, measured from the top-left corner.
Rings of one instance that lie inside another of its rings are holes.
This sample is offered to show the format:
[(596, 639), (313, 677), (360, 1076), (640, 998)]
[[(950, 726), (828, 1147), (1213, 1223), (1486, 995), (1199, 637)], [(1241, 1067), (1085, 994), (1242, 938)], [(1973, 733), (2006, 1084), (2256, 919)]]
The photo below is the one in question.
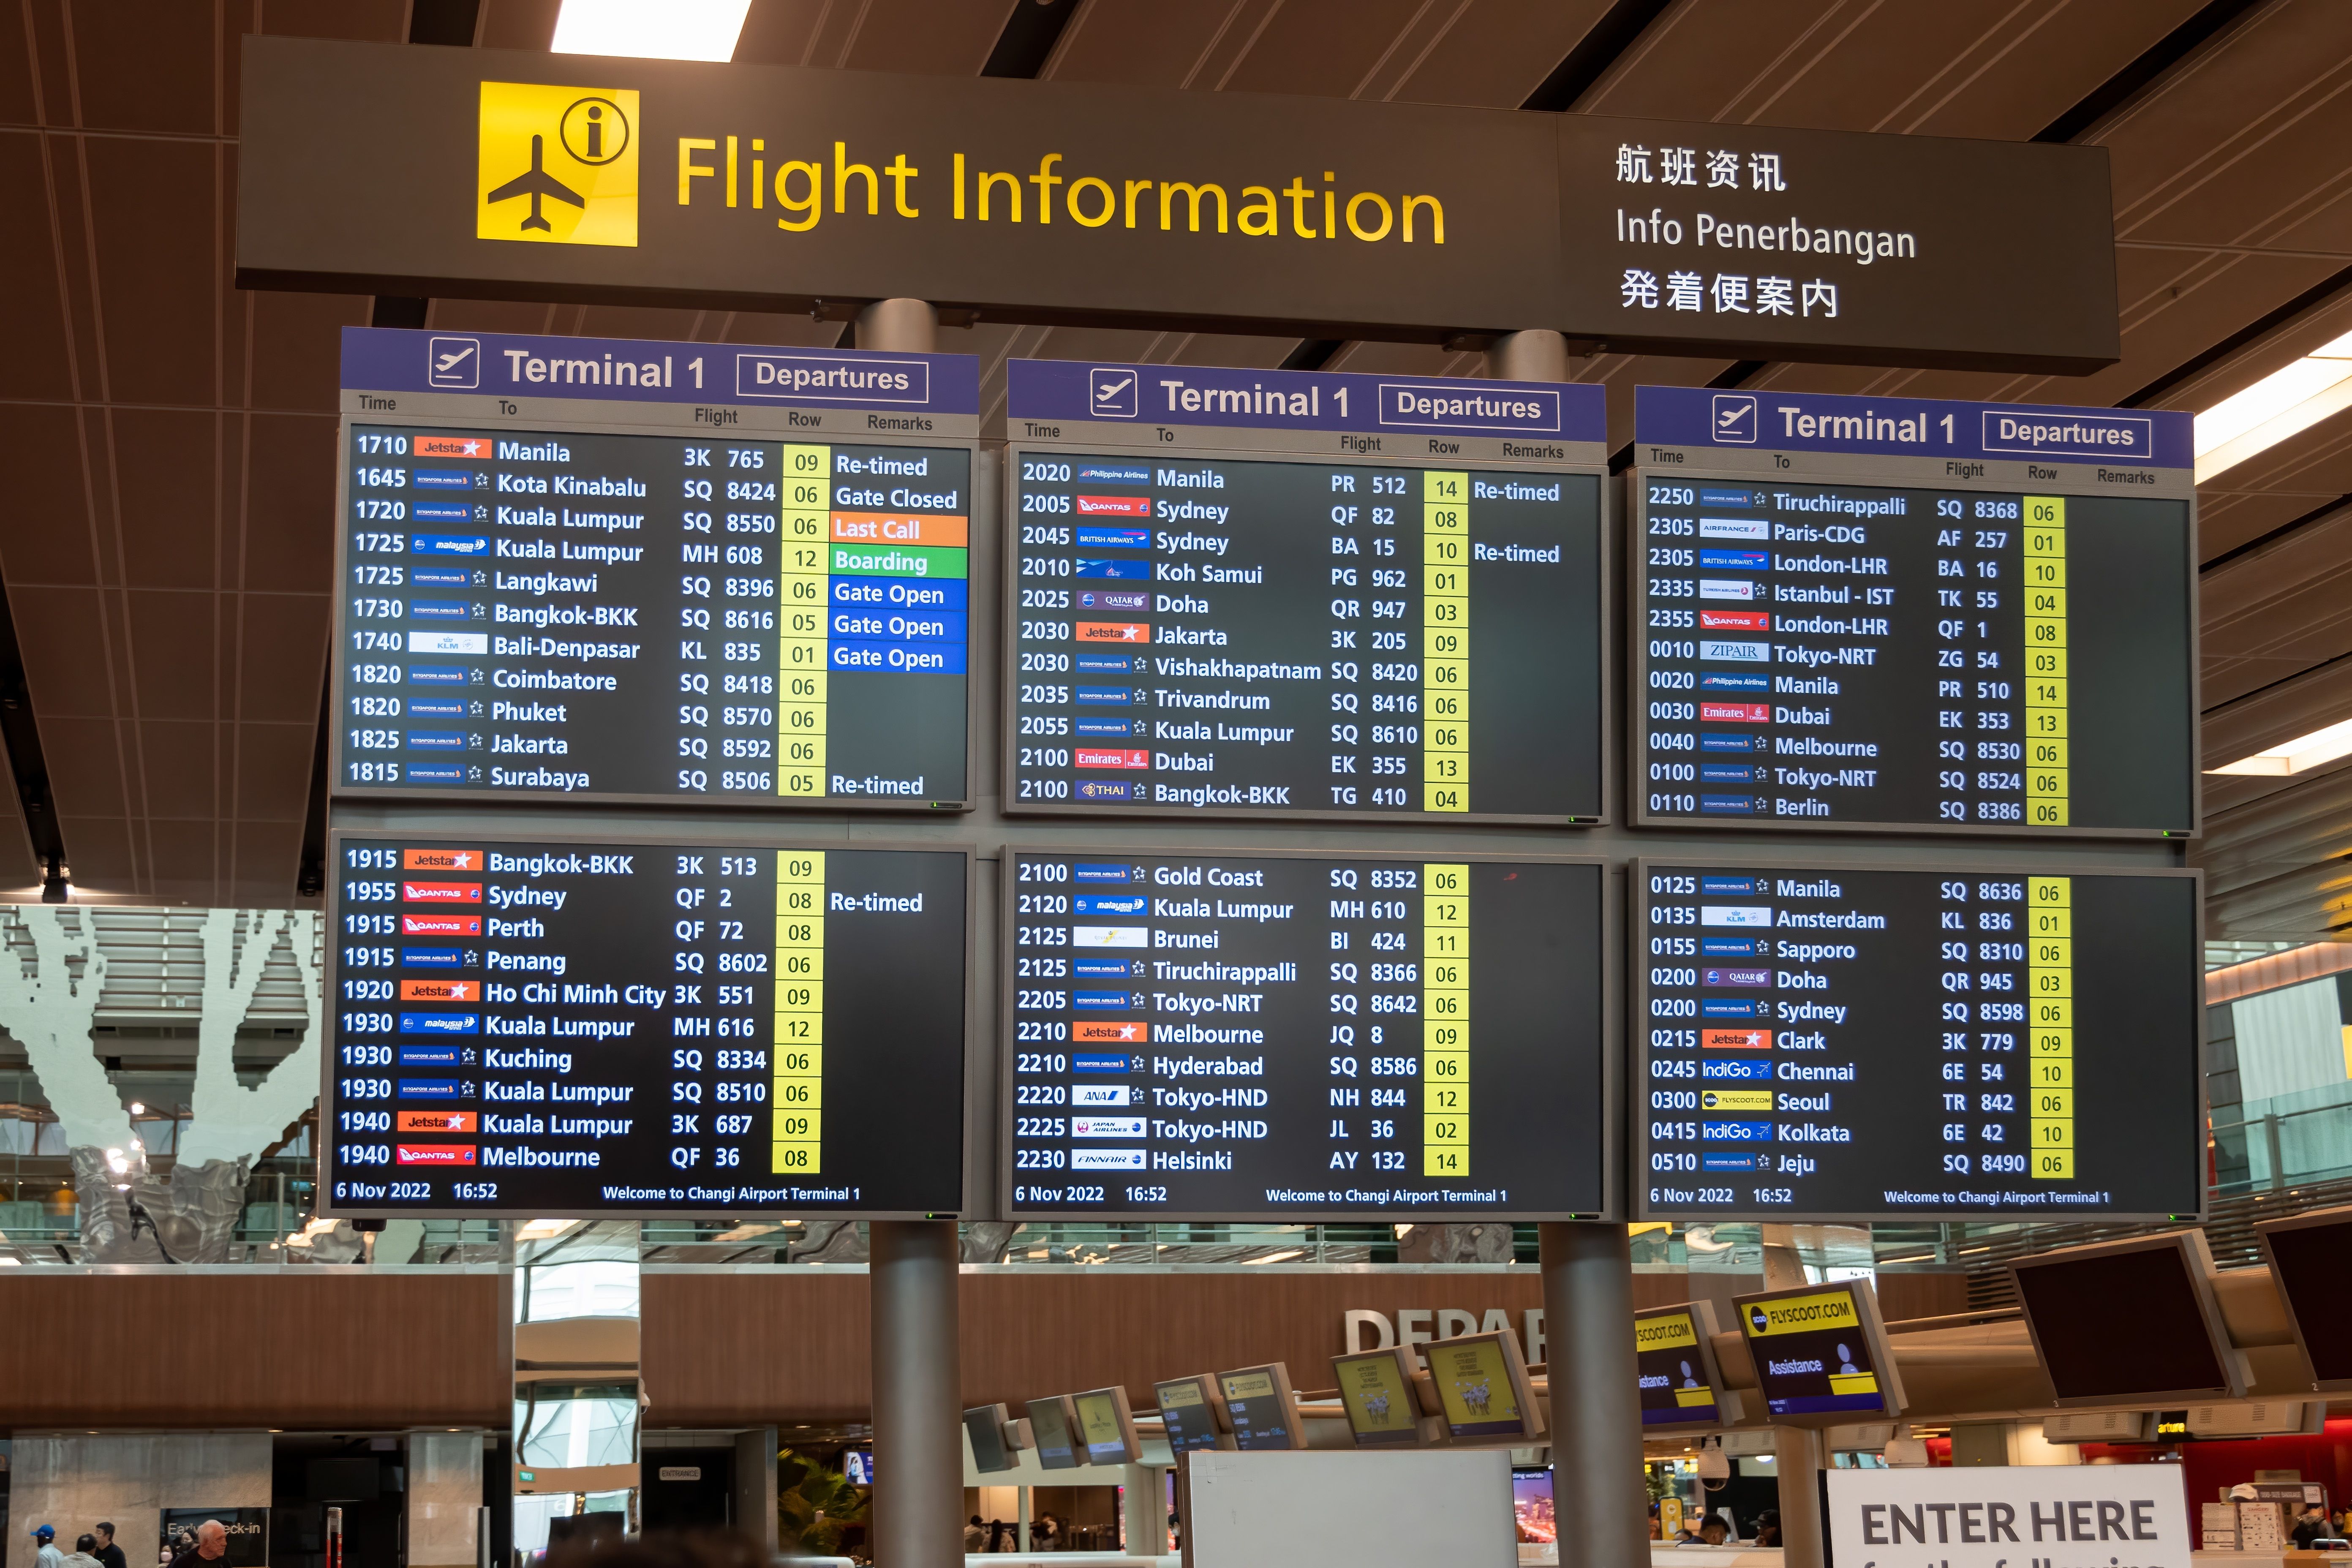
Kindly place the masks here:
[(1009, 461), (1007, 809), (1599, 818), (1597, 475)]

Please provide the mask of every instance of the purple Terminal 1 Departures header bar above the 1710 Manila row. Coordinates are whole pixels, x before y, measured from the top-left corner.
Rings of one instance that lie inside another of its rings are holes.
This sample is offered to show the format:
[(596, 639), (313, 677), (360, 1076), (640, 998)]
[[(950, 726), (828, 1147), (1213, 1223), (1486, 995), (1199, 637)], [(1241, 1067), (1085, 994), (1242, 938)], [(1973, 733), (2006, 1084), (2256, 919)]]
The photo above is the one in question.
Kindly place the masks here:
[(588, 402), (981, 411), (981, 362), (971, 355), (541, 339), (510, 331), (343, 327), (343, 386), (365, 393), (485, 393)]

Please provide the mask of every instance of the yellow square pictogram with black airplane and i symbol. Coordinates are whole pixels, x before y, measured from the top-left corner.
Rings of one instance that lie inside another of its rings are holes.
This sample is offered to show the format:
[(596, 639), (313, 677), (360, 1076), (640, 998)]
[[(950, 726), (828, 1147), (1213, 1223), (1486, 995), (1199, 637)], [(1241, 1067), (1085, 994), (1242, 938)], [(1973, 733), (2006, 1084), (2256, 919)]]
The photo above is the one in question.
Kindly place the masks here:
[(473, 235), (637, 242), (637, 94), (482, 82)]

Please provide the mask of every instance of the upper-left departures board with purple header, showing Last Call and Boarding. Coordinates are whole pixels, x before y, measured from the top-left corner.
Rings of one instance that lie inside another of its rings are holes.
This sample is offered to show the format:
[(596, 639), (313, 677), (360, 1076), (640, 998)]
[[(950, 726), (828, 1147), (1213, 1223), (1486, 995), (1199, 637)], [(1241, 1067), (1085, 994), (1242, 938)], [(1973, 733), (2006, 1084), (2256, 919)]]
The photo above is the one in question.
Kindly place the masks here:
[(974, 374), (348, 329), (336, 792), (960, 809)]

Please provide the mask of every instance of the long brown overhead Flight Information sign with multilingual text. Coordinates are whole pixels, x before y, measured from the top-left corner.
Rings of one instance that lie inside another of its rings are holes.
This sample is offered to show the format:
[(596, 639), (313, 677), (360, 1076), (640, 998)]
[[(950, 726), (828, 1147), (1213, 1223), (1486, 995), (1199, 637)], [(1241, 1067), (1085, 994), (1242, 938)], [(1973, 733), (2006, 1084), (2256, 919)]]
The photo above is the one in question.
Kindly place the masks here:
[(2098, 148), (247, 38), (245, 287), (2084, 371)]

